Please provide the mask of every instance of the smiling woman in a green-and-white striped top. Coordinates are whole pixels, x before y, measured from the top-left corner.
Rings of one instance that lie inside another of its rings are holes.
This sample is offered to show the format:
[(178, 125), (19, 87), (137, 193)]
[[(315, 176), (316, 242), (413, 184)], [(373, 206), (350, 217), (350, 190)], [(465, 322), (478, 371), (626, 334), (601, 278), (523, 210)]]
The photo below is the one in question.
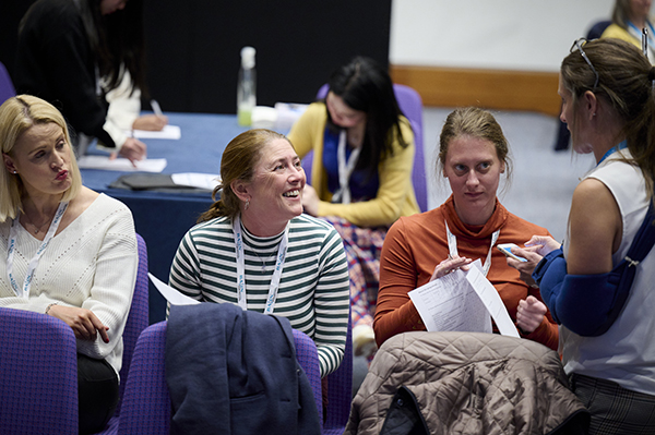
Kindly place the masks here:
[(302, 215), (300, 158), (284, 135), (250, 130), (227, 145), (221, 177), (221, 200), (180, 242), (170, 286), (287, 317), (314, 340), (326, 376), (344, 357), (348, 266), (335, 229)]

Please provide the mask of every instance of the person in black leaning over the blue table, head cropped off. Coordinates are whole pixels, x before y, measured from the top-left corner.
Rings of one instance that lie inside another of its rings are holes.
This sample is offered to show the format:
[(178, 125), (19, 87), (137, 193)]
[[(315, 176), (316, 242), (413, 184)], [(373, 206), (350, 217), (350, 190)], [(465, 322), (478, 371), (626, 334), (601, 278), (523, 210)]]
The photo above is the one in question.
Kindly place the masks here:
[(80, 154), (96, 137), (107, 150), (141, 160), (145, 144), (124, 130), (162, 130), (167, 123), (138, 117), (146, 89), (142, 8), (142, 0), (37, 0), (21, 21), (16, 90), (59, 107)]

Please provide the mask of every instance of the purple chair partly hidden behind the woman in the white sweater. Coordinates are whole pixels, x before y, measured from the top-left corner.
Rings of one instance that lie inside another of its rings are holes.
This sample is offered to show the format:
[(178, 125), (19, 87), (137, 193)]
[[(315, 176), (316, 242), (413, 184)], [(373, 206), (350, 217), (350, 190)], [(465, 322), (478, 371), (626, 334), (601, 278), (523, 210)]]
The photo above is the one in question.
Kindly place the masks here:
[(130, 373), (132, 354), (139, 336), (148, 324), (148, 280), (147, 280), (147, 247), (145, 241), (140, 234), (136, 234), (136, 246), (139, 249), (139, 268), (136, 270), (136, 282), (134, 285), (134, 295), (132, 297), (132, 306), (128, 314), (128, 322), (123, 329), (123, 358), (120, 368), (119, 399), (116, 412), (107, 423), (107, 427), (100, 434), (118, 433), (118, 422), (122, 407), (122, 397), (126, 390), (126, 380)]

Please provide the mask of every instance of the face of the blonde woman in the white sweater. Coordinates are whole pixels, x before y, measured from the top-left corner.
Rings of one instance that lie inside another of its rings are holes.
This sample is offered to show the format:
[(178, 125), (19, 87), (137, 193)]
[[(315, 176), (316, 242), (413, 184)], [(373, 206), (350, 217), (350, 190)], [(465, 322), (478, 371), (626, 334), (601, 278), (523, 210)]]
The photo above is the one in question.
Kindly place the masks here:
[(3, 154), (4, 166), (17, 172), (28, 195), (66, 192), (72, 184), (71, 159), (70, 144), (53, 122), (31, 126), (19, 136), (11, 155)]

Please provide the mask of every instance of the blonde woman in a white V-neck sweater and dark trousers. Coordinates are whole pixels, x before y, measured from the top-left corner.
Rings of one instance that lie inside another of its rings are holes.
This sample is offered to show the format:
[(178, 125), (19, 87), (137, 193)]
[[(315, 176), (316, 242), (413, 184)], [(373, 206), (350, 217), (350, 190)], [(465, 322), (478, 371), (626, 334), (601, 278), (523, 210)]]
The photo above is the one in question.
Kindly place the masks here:
[(132, 214), (82, 185), (66, 121), (47, 101), (20, 95), (2, 104), (0, 147), (0, 306), (73, 329), (80, 433), (102, 431), (118, 401), (136, 280)]

